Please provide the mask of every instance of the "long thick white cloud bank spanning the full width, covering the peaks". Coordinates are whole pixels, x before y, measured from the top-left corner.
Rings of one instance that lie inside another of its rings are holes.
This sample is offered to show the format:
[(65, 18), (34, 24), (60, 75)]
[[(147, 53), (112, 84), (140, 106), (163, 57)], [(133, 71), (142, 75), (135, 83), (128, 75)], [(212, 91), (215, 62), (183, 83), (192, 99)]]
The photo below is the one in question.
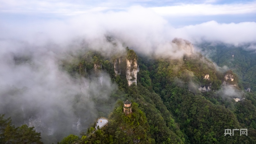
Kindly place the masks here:
[(256, 41), (255, 22), (209, 21), (174, 28), (165, 18), (141, 6), (133, 6), (119, 12), (86, 13), (65, 20), (28, 21), (23, 24), (2, 21), (0, 30), (2, 39), (14, 38), (33, 45), (44, 45), (51, 41), (64, 46), (74, 38), (85, 38), (91, 41), (90, 44), (94, 48), (96, 39), (101, 41), (98, 44), (103, 44), (103, 36), (111, 35), (126, 46), (137, 48), (144, 53), (161, 50), (161, 46), (165, 46), (165, 51), (168, 51), (166, 46), (175, 37), (192, 42), (207, 40), (235, 45)]

